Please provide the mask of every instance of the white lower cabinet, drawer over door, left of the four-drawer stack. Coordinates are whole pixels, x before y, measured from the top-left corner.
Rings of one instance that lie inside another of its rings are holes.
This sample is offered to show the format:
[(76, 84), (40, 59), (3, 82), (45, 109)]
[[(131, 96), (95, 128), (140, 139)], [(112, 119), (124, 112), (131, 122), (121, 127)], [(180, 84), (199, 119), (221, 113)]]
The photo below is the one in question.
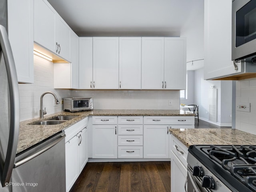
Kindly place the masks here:
[(117, 158), (117, 117), (92, 117), (92, 158)]

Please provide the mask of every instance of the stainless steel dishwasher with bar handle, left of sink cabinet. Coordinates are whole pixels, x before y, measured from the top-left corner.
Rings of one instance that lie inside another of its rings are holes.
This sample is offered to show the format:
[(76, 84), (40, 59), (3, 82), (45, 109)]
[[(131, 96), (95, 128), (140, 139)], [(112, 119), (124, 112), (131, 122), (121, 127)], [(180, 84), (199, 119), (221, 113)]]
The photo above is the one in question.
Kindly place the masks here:
[(65, 136), (59, 132), (16, 156), (12, 192), (66, 191)]

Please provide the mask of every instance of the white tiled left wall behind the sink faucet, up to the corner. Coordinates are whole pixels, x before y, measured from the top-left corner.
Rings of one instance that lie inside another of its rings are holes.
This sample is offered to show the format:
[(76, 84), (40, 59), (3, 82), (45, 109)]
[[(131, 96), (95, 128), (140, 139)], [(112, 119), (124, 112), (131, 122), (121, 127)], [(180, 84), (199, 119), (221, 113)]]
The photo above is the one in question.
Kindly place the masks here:
[[(20, 90), (20, 121), (39, 117), (40, 96), (47, 91), (54, 92), (57, 98), (70, 96), (70, 90), (53, 88), (53, 63), (34, 56), (34, 83), (19, 84)], [(62, 104), (53, 106), (54, 97), (46, 94), (43, 99), (47, 114), (62, 111)]]

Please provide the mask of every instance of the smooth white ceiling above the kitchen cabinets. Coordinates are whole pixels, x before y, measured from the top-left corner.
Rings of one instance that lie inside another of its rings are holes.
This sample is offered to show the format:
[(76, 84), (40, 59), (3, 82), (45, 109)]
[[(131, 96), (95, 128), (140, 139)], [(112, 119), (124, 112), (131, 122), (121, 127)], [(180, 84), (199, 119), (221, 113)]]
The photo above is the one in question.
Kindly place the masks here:
[(191, 16), (203, 16), (197, 14), (197, 8), (201, 8), (204, 1), (48, 0), (48, 2), (78, 36), (180, 36), (182, 28), (191, 22)]

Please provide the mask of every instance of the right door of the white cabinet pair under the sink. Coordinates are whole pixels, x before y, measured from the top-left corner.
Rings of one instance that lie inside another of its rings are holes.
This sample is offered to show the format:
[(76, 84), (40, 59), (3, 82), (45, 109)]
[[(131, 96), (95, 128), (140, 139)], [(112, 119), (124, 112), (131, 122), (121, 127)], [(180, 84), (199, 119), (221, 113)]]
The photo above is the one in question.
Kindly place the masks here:
[(84, 128), (78, 133), (78, 150), (79, 150), (79, 173), (82, 172), (85, 164), (88, 162), (88, 132)]

